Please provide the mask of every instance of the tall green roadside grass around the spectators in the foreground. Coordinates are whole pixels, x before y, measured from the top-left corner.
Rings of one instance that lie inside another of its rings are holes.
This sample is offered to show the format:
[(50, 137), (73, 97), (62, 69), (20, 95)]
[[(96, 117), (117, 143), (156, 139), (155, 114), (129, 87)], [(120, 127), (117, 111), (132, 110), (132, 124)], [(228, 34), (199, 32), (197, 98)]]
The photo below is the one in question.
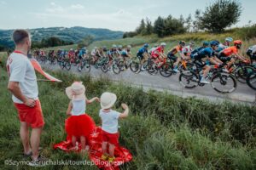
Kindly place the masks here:
[[(6, 59), (3, 58), (3, 59)], [(17, 112), (7, 90), (8, 76), (0, 68), (0, 168), (33, 169), (26, 166), (3, 166), (4, 160), (22, 160)], [(182, 99), (167, 93), (131, 88), (128, 85), (75, 77), (52, 72), (61, 83), (38, 82), (45, 127), (41, 146), (51, 160), (89, 160), (86, 156), (53, 150), (53, 144), (66, 138), (64, 121), (68, 99), (65, 88), (73, 81), (83, 81), (88, 98), (111, 91), (120, 104), (129, 105), (131, 113), (119, 121), (121, 145), (131, 150), (133, 161), (121, 169), (255, 169), (256, 108), (229, 102), (214, 104), (207, 100)], [(88, 105), (87, 113), (100, 125), (100, 105)], [(42, 169), (96, 169), (95, 166), (48, 166)], [(40, 168), (39, 168), (40, 169)]]

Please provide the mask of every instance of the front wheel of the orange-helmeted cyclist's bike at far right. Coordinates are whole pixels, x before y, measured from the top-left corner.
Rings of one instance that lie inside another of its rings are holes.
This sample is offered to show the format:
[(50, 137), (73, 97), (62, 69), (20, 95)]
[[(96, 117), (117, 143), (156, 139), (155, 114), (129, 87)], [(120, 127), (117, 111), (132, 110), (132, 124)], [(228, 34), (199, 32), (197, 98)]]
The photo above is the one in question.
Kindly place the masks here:
[(235, 77), (238, 82), (246, 83), (248, 75), (253, 72), (254, 68), (250, 65), (243, 65), (236, 69)]

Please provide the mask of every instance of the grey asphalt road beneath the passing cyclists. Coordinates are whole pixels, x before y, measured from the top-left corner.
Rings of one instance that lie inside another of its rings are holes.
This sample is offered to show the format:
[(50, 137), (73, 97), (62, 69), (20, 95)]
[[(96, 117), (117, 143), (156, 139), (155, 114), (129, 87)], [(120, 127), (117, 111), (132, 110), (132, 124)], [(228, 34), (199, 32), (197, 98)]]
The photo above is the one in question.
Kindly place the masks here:
[[(42, 65), (44, 68), (49, 70), (60, 70), (59, 65)], [(94, 66), (91, 66), (90, 72), (77, 71), (77, 67), (73, 66), (70, 71), (73, 71), (76, 74), (90, 74), (91, 77), (108, 77), (108, 79), (116, 82), (125, 82), (132, 86), (143, 87), (145, 90), (155, 89), (158, 91), (165, 91), (166, 93), (176, 94), (182, 97), (192, 97), (200, 99), (210, 99), (212, 101), (222, 102), (225, 99), (252, 104), (256, 99), (256, 91), (252, 88), (249, 88), (247, 84), (238, 82), (236, 91), (231, 94), (219, 94), (216, 92), (210, 84), (205, 85), (204, 87), (196, 87), (193, 89), (183, 88), (178, 82), (178, 75), (172, 75), (172, 77), (161, 77), (160, 73), (155, 76), (149, 75), (147, 71), (140, 72), (135, 74), (130, 70), (122, 71), (119, 75), (113, 73), (113, 71), (108, 71), (103, 73), (101, 69), (96, 69)]]

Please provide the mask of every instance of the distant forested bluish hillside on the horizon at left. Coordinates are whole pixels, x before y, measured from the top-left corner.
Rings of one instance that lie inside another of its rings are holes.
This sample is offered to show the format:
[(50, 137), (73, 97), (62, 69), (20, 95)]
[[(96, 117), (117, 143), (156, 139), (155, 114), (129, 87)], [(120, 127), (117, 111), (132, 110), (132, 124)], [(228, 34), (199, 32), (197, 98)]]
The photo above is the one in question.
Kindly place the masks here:
[[(43, 38), (59, 37), (61, 40), (67, 42), (77, 43), (84, 37), (90, 35), (95, 40), (111, 40), (121, 38), (123, 36), (122, 31), (111, 31), (108, 29), (97, 28), (84, 28), (84, 27), (51, 27), (51, 28), (37, 28), (29, 29), (32, 34), (32, 41), (41, 41)], [(14, 43), (11, 40), (11, 34), (13, 30), (0, 30), (0, 45), (13, 47)]]

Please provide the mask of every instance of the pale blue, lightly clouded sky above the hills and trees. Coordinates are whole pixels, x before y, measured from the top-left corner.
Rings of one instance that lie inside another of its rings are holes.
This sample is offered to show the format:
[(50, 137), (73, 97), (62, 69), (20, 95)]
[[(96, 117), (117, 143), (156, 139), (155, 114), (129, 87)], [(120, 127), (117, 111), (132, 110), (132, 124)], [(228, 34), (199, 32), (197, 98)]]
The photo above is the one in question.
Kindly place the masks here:
[[(204, 10), (211, 0), (0, 0), (0, 29), (84, 26), (134, 31), (140, 20), (172, 14), (186, 18)], [(256, 23), (256, 1), (240, 0), (242, 13), (235, 26)]]

